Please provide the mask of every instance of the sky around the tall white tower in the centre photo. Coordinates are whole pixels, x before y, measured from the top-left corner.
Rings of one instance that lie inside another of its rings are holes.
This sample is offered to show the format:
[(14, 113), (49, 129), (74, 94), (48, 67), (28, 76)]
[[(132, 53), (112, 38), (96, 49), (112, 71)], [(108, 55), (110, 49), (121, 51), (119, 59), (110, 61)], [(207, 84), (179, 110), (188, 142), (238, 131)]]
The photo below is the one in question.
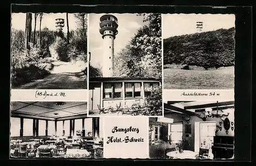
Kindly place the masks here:
[[(137, 16), (136, 14), (117, 14), (109, 13), (117, 17), (118, 19), (118, 34), (114, 40), (114, 54), (116, 55), (121, 49), (125, 48), (131, 41), (131, 38), (135, 36), (137, 31), (146, 22), (143, 22), (143, 16)], [(94, 67), (103, 66), (101, 62), (103, 39), (99, 33), (99, 18), (102, 14), (89, 14), (89, 51), (91, 52), (91, 65)]]

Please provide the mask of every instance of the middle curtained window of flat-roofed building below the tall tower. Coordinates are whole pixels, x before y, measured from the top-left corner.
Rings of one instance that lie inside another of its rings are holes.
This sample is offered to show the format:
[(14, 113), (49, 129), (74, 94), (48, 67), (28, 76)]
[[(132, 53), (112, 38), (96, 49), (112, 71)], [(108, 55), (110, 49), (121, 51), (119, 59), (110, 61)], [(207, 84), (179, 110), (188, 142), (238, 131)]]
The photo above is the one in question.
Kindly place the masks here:
[(141, 83), (125, 83), (125, 97), (141, 97)]

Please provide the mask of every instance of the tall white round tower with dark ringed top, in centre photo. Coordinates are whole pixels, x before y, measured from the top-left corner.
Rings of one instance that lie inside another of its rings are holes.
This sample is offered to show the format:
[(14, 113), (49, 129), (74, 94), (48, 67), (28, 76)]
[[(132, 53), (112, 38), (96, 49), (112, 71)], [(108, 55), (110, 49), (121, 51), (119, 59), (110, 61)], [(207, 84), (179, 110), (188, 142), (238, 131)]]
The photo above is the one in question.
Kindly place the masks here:
[(102, 75), (103, 77), (112, 77), (114, 68), (114, 39), (118, 34), (118, 20), (114, 15), (106, 14), (100, 17), (99, 26), (99, 33), (104, 40)]

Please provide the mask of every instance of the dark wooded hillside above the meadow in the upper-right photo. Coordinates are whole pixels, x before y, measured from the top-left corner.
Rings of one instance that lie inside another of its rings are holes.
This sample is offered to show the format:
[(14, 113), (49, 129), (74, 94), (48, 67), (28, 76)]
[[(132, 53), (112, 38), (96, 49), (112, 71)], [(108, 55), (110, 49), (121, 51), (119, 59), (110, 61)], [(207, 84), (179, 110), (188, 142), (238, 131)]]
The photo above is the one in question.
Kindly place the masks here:
[(209, 68), (234, 65), (234, 27), (163, 40), (164, 64)]

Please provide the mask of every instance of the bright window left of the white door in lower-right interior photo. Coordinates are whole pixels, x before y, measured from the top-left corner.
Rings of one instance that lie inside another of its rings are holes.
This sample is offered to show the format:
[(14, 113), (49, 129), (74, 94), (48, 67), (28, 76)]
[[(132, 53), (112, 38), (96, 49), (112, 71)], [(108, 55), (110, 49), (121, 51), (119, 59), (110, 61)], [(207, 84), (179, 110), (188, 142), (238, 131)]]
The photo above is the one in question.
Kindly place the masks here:
[(183, 136), (183, 124), (170, 124), (170, 139), (174, 142), (181, 142)]

